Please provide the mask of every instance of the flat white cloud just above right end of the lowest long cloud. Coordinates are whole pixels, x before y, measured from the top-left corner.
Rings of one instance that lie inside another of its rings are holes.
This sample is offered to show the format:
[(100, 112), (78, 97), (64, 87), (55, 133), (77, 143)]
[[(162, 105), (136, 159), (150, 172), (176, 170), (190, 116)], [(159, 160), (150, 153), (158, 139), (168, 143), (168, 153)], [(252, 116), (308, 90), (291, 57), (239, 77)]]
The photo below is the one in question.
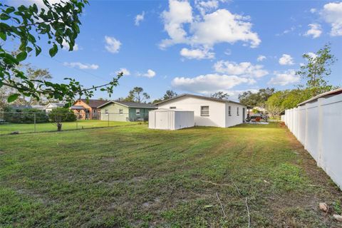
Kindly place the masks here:
[(269, 73), (264, 70), (264, 66), (262, 65), (253, 65), (249, 62), (235, 63), (231, 61), (217, 61), (214, 64), (214, 70), (218, 73), (255, 78), (261, 78)]

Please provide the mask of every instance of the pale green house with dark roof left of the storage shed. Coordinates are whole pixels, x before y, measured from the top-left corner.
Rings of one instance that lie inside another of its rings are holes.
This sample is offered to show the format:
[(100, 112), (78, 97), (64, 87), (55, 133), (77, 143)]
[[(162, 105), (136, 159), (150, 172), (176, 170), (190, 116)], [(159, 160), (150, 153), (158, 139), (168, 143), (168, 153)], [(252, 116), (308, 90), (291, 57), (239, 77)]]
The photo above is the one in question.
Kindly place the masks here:
[(98, 108), (100, 109), (100, 120), (109, 121), (147, 121), (148, 111), (157, 109), (152, 104), (120, 100), (110, 100)]

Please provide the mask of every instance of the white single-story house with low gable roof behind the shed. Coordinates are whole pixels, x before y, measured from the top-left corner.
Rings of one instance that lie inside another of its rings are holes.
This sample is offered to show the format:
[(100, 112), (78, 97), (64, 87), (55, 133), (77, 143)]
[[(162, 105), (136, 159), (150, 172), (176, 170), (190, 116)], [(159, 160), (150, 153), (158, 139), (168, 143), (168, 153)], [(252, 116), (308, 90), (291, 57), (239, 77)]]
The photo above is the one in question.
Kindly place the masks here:
[(155, 105), (164, 109), (192, 110), (198, 126), (228, 128), (244, 123), (247, 115), (247, 106), (241, 103), (192, 94), (178, 95)]

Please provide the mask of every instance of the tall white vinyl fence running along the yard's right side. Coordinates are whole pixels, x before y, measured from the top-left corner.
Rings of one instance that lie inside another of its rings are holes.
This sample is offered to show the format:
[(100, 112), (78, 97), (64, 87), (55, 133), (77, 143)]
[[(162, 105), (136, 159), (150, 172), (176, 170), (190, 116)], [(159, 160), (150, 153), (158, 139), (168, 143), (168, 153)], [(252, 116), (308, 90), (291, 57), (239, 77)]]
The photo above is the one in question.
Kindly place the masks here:
[(281, 120), (342, 189), (342, 94), (286, 110)]

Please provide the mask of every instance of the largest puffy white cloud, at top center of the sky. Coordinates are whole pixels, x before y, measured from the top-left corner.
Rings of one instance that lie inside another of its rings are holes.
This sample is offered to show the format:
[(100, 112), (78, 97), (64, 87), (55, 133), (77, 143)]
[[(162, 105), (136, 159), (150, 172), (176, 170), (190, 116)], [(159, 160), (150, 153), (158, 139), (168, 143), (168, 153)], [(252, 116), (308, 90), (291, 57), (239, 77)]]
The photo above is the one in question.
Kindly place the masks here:
[[(216, 9), (216, 1), (197, 1), (202, 9)], [(203, 8), (204, 7), (204, 8)], [(217, 9), (208, 14), (193, 15), (188, 1), (169, 1), (169, 11), (162, 12), (165, 31), (170, 38), (162, 40), (160, 48), (177, 43), (212, 48), (217, 43), (243, 41), (251, 47), (259, 46), (261, 40), (252, 32), (249, 16), (232, 14), (227, 9)], [(189, 29), (185, 29), (185, 25)]]

